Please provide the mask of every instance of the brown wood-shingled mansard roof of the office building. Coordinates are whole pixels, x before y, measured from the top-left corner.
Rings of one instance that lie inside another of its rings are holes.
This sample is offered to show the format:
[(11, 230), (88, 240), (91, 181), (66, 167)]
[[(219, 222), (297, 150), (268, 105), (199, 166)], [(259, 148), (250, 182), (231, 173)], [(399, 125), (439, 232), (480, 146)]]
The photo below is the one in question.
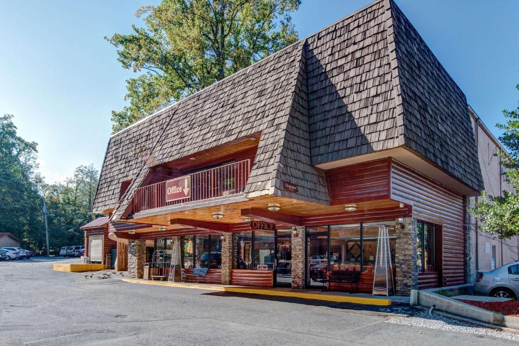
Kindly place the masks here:
[(327, 204), (314, 165), (399, 146), (482, 188), (465, 95), (398, 7), (379, 0), (112, 136), (93, 209), (118, 219), (150, 168), (257, 132), (246, 197)]

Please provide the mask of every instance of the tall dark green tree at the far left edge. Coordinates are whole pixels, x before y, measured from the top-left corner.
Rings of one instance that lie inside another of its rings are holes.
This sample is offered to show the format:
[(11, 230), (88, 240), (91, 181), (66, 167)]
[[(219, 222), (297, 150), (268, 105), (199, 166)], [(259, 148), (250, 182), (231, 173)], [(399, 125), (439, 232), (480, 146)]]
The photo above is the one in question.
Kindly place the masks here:
[(18, 136), (12, 115), (0, 116), (0, 232), (35, 247), (41, 227), (37, 144)]

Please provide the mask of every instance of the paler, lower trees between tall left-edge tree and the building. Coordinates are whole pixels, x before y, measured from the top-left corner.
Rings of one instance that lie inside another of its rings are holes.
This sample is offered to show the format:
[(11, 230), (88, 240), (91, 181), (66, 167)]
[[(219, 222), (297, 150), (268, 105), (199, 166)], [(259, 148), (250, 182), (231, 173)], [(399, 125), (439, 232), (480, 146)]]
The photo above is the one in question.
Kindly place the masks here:
[(73, 177), (45, 187), (51, 250), (84, 243), (84, 232), (80, 227), (94, 218), (92, 199), (98, 177), (99, 172), (93, 164), (81, 165)]

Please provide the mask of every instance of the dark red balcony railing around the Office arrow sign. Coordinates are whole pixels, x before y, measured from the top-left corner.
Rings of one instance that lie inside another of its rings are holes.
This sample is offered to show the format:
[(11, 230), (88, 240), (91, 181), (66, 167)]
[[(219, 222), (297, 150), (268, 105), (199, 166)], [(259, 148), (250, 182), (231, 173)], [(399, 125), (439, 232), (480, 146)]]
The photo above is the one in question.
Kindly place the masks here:
[(185, 175), (183, 178), (190, 181), (190, 196), (170, 202), (167, 202), (167, 181), (141, 187), (133, 194), (133, 212), (237, 195), (245, 190), (249, 172), (250, 160), (243, 160)]

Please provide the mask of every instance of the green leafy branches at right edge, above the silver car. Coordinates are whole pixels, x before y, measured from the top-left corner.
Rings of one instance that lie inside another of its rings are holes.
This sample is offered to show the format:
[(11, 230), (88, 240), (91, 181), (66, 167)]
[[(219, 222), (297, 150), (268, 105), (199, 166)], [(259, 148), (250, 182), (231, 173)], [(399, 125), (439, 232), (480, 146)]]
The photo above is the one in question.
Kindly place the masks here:
[[(519, 85), (516, 88), (519, 89)], [(504, 109), (503, 114), (507, 121), (497, 124), (504, 131), (499, 140), (509, 152), (498, 155), (504, 165), (505, 180), (513, 190), (503, 191), (502, 196), (490, 196), (482, 191), (481, 201), (471, 210), (483, 223), (481, 229), (497, 234), (500, 239), (519, 234), (519, 107), (512, 111)]]

